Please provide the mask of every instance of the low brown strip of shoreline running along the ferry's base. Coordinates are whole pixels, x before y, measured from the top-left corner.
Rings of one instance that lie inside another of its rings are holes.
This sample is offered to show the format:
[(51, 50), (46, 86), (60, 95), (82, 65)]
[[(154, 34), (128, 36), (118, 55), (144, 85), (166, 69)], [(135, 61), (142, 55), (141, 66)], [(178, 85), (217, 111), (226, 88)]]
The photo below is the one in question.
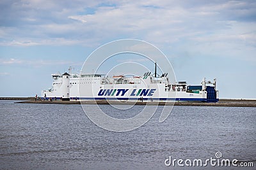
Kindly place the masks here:
[[(141, 101), (35, 101), (34, 97), (0, 97), (0, 100), (20, 100), (15, 103), (33, 103), (33, 104), (119, 104), (119, 105), (169, 105), (173, 103), (165, 101), (141, 102)], [(218, 103), (201, 103), (201, 102), (179, 102), (175, 101), (175, 106), (227, 106), (227, 107), (256, 107), (256, 99), (220, 99)]]

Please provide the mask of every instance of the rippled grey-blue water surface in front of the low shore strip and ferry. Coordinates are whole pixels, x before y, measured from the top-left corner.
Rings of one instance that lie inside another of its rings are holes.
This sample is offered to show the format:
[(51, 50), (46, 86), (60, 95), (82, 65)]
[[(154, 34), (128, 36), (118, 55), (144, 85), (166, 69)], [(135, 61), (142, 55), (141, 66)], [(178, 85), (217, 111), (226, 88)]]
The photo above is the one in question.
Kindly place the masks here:
[[(100, 106), (116, 118), (143, 107)], [(80, 105), (0, 101), (0, 169), (173, 169), (164, 165), (169, 156), (205, 160), (216, 152), (256, 166), (256, 108), (174, 106), (159, 123), (161, 107), (139, 129), (109, 132)]]

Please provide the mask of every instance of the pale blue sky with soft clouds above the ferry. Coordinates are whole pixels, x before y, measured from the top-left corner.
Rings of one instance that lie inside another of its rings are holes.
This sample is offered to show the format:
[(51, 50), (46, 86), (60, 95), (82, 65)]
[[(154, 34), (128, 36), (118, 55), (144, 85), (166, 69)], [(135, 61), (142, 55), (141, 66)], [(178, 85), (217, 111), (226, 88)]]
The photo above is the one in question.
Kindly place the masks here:
[(1, 0), (0, 97), (40, 95), (52, 73), (80, 70), (99, 46), (140, 39), (168, 57), (177, 80), (216, 78), (220, 98), (255, 99), (255, 9), (256, 1)]

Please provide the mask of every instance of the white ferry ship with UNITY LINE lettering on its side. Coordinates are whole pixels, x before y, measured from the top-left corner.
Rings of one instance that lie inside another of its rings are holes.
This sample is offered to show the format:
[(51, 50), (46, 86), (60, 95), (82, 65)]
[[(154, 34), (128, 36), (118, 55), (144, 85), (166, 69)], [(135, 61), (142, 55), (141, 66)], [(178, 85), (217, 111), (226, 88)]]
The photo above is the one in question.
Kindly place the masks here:
[(216, 79), (200, 85), (186, 81), (171, 83), (168, 73), (161, 75), (147, 72), (143, 76), (106, 76), (105, 74), (68, 73), (51, 74), (52, 87), (43, 90), (44, 99), (70, 100), (119, 100), (119, 101), (197, 101), (216, 103), (219, 92)]

